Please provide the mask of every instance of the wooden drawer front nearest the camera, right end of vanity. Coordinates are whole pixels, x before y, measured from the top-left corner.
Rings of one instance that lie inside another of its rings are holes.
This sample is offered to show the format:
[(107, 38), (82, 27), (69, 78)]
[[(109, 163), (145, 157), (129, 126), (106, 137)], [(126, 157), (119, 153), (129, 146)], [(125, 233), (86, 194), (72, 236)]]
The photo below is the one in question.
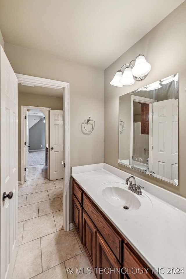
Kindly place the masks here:
[[(138, 260), (138, 258), (129, 250), (129, 248), (124, 245), (124, 267), (129, 271), (129, 278), (130, 279), (153, 279), (153, 278), (157, 278), (156, 276), (153, 276), (149, 273), (146, 273), (145, 269), (147, 269), (147, 265), (144, 264), (144, 262), (140, 262)], [(145, 269), (144, 269), (145, 268)], [(139, 269), (139, 273), (132, 273), (132, 269)], [(142, 272), (143, 269), (143, 274), (140, 274)], [(130, 274), (131, 273), (131, 274)]]

